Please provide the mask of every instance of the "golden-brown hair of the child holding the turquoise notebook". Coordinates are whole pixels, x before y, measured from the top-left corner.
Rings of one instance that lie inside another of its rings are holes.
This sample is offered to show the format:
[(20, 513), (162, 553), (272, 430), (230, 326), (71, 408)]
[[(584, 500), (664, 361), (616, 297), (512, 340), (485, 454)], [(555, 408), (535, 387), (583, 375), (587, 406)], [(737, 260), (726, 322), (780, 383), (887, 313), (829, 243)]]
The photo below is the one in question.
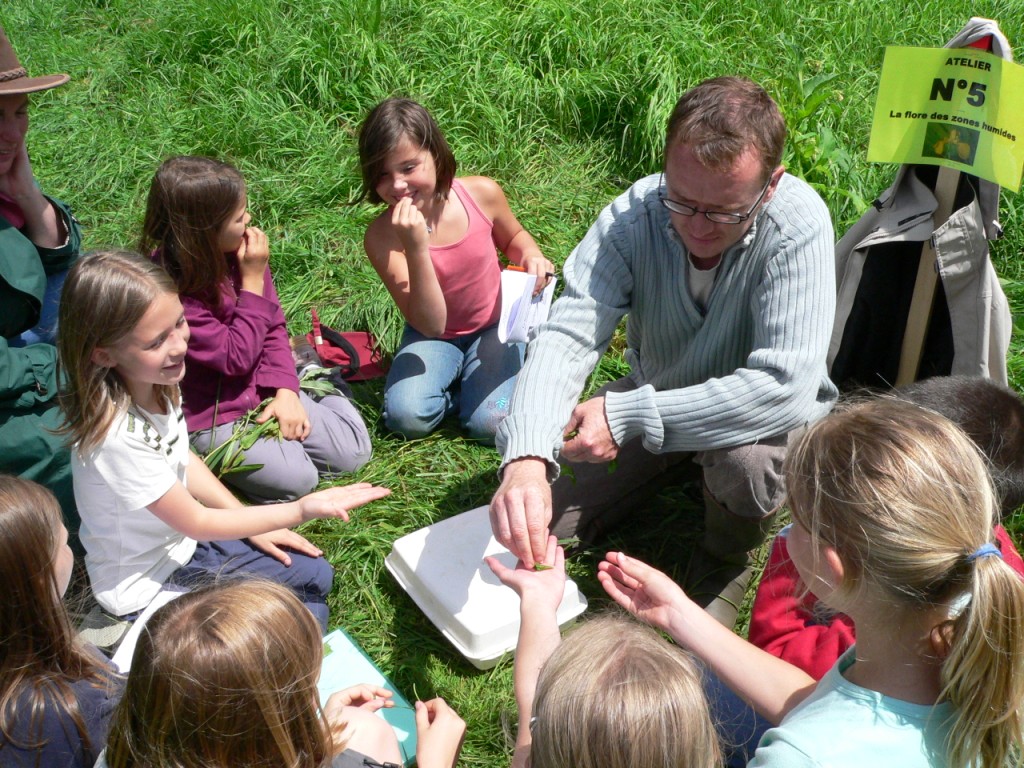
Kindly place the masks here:
[(319, 628), (287, 588), (246, 579), (146, 624), (108, 738), (110, 768), (323, 768)]

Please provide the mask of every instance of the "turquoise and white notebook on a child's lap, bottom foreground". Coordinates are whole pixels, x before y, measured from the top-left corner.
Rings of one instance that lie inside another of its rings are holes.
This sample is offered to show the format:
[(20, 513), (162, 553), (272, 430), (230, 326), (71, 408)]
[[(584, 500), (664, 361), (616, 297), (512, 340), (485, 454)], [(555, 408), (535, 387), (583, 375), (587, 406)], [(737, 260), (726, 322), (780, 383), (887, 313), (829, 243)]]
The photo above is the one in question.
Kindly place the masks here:
[(328, 696), (335, 691), (359, 683), (379, 685), (394, 694), (394, 707), (379, 710), (377, 714), (394, 728), (402, 763), (411, 766), (416, 762), (416, 711), (384, 673), (377, 669), (377, 665), (358, 643), (344, 630), (335, 630), (324, 638), (324, 666), (321, 668), (319, 682), (316, 683), (321, 701), (326, 702)]

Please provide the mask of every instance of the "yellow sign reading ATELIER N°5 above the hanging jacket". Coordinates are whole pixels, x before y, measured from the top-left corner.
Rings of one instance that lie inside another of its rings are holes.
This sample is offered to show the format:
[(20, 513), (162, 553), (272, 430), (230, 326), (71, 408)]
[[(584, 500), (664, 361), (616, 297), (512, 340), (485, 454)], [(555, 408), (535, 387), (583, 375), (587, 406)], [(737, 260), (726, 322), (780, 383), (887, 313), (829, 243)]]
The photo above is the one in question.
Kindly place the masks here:
[(974, 48), (886, 48), (867, 160), (1020, 188), (1024, 67)]

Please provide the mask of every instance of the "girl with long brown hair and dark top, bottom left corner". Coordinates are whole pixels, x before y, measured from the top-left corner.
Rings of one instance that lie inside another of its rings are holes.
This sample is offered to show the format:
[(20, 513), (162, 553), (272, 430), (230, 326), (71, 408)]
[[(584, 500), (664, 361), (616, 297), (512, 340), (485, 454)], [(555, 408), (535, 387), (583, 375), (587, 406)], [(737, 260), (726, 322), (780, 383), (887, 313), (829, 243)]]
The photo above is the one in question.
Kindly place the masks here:
[(61, 597), (74, 558), (53, 495), (0, 475), (0, 765), (92, 768), (122, 680)]

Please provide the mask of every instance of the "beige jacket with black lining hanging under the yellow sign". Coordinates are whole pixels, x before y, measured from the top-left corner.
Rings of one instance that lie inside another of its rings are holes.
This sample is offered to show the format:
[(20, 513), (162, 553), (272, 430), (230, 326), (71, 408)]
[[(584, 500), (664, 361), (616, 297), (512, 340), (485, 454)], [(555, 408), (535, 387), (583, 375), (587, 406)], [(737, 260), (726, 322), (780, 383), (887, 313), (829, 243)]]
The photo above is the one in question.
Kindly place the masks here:
[[(1012, 58), (998, 27), (983, 18), (972, 18), (946, 47), (985, 35), (993, 36), (993, 53)], [(893, 185), (836, 247), (839, 295), (828, 367), (841, 389), (895, 383), (921, 245), (929, 238), (939, 287), (919, 378), (966, 375), (1007, 382), (1012, 318), (988, 258), (988, 241), (1002, 236), (999, 188), (963, 174), (952, 215), (935, 228), (936, 173), (933, 166), (901, 166)]]

